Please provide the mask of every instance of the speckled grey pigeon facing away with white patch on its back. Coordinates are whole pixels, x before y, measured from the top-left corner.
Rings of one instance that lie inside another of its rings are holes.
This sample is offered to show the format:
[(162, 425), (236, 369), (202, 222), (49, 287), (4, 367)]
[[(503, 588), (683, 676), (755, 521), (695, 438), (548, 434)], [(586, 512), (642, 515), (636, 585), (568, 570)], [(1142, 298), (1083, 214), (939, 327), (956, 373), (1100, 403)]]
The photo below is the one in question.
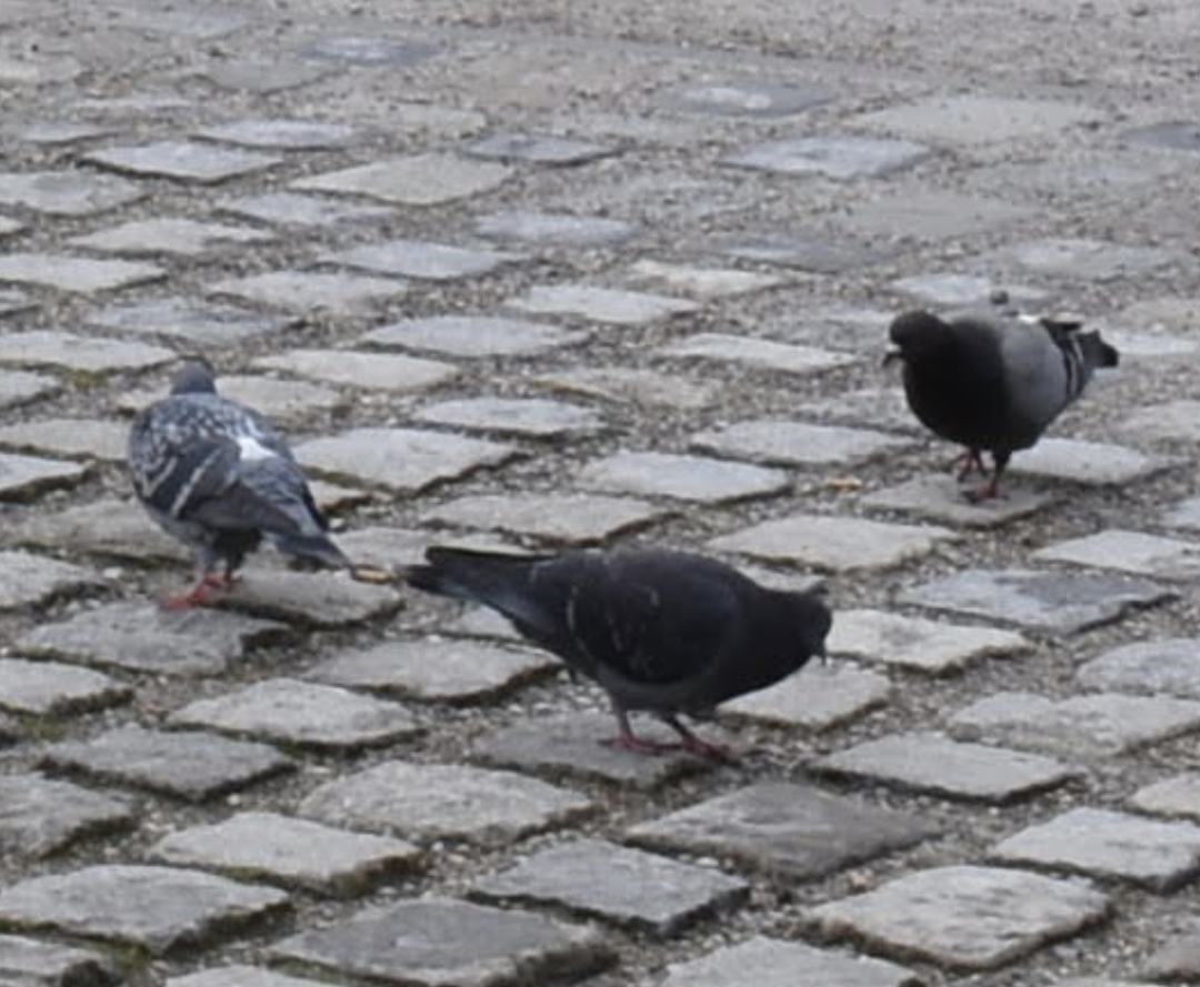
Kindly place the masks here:
[(184, 362), (170, 395), (134, 419), (128, 465), (146, 512), (193, 553), (196, 580), (163, 601), (169, 608), (228, 588), (264, 537), (288, 555), (352, 567), (283, 439), (257, 411), (217, 395), (202, 360)]

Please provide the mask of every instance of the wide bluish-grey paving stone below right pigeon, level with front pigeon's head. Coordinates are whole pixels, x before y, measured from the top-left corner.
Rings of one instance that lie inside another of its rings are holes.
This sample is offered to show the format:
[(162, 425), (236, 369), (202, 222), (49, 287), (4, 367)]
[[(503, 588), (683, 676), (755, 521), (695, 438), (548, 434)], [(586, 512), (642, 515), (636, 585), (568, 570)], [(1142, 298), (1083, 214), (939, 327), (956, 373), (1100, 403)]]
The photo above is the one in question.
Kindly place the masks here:
[(1074, 634), (1171, 596), (1147, 579), (1106, 573), (967, 568), (901, 590), (896, 602)]

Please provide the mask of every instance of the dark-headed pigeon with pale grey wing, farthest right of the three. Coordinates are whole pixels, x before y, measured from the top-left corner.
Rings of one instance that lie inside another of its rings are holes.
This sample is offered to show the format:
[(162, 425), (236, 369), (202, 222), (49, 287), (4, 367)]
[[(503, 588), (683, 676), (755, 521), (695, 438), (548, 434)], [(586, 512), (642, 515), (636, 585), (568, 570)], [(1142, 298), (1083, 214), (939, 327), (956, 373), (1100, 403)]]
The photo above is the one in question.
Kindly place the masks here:
[(943, 439), (966, 446), (959, 481), (972, 470), (990, 480), (970, 496), (1000, 496), (1013, 452), (1028, 449), (1078, 398), (1098, 367), (1117, 366), (1116, 349), (1074, 318), (1012, 318), (971, 313), (941, 319), (906, 312), (893, 320), (896, 349), (884, 362), (904, 365), (908, 407)]

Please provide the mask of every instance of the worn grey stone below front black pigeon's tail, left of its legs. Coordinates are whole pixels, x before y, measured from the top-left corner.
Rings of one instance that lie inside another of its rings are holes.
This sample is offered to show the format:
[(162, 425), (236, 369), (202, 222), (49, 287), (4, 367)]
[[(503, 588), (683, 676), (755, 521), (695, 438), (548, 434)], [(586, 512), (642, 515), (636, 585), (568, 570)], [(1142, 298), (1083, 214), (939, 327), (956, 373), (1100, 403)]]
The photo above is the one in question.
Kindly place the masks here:
[(498, 698), (545, 676), (558, 661), (540, 651), (461, 638), (390, 640), (346, 651), (310, 673), (322, 682), (443, 703)]

